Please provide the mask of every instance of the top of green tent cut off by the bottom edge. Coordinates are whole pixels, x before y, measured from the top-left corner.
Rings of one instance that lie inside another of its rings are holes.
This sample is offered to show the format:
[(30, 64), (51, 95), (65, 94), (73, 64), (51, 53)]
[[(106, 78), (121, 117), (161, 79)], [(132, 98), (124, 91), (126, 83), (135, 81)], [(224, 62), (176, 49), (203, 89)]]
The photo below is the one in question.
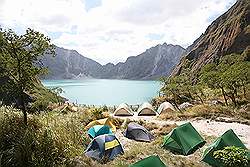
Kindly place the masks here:
[(129, 167), (167, 167), (159, 158), (159, 156), (149, 156), (147, 158), (144, 158), (143, 160), (140, 160), (132, 165), (129, 165)]

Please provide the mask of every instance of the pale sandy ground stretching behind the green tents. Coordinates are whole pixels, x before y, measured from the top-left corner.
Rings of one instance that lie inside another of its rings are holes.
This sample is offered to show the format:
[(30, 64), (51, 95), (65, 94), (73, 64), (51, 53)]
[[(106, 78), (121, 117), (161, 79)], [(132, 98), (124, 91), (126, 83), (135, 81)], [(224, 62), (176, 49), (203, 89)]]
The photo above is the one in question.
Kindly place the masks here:
[[(117, 117), (117, 116), (116, 116)], [(239, 123), (226, 123), (226, 122), (218, 122), (213, 121), (209, 119), (201, 119), (201, 120), (187, 120), (187, 121), (163, 121), (156, 119), (157, 117), (154, 116), (130, 116), (130, 117), (118, 117), (121, 119), (130, 119), (130, 120), (144, 120), (146, 122), (153, 122), (158, 125), (164, 125), (164, 124), (174, 124), (181, 125), (186, 122), (191, 122), (192, 125), (195, 127), (196, 130), (198, 130), (201, 134), (207, 135), (207, 136), (217, 136), (219, 137), (224, 132), (226, 132), (229, 129), (232, 129), (237, 136), (242, 140), (242, 142), (246, 145), (248, 149), (250, 149), (250, 126), (245, 124), (239, 124)], [(122, 137), (122, 133), (120, 131), (116, 134), (118, 137)], [(126, 144), (129, 143), (129, 139), (122, 137), (122, 144), (126, 146)]]

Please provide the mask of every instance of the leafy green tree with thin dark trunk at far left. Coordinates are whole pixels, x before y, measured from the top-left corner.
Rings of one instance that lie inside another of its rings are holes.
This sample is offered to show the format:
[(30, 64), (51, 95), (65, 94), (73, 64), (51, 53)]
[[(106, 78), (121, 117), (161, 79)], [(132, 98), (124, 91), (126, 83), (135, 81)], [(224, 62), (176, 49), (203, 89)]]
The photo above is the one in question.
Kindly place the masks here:
[(27, 125), (26, 96), (36, 83), (38, 76), (45, 73), (41, 56), (54, 54), (54, 46), (45, 35), (27, 29), (24, 35), (12, 30), (0, 31), (0, 77), (8, 78), (4, 89), (13, 89), (20, 101), (20, 109)]

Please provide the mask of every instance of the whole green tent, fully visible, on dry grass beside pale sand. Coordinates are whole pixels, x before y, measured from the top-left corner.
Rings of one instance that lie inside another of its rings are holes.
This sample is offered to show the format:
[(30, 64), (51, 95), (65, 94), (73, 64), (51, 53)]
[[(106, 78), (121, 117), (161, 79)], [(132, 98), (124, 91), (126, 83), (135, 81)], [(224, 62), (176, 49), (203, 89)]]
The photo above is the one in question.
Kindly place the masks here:
[(172, 152), (189, 155), (205, 144), (190, 122), (174, 128), (165, 138), (163, 147)]

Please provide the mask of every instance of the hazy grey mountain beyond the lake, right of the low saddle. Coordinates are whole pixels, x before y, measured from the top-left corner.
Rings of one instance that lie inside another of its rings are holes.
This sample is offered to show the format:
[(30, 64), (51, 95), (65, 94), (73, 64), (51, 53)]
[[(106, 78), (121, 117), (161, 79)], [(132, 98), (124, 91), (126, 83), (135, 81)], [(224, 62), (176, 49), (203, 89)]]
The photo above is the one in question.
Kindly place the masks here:
[(104, 66), (102, 78), (156, 79), (168, 76), (185, 52), (181, 46), (162, 44), (144, 53), (129, 57), (126, 62)]

